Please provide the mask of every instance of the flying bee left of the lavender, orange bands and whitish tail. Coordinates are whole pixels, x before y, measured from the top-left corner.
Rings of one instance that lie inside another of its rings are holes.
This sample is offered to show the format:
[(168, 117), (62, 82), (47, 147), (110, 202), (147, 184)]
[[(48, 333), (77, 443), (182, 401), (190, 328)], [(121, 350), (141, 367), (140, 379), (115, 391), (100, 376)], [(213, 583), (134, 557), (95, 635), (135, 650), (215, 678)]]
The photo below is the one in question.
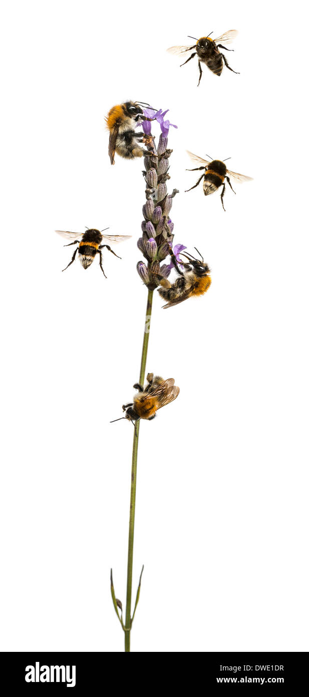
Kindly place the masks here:
[[(108, 227), (105, 227), (104, 230), (108, 230)], [(72, 256), (72, 259), (70, 263), (68, 263), (68, 266), (65, 266), (63, 268), (63, 271), (65, 269), (69, 268), (71, 266), (71, 263), (73, 263), (75, 256), (77, 255), (77, 252), (79, 253), (79, 259), (81, 261), (81, 266), (83, 268), (88, 268), (91, 263), (93, 263), (93, 259), (95, 259), (95, 255), (99, 254), (100, 256), (100, 268), (104, 273), (104, 268), (102, 266), (102, 249), (106, 247), (111, 254), (114, 256), (117, 256), (118, 259), (121, 259), (121, 256), (118, 256), (113, 250), (111, 250), (111, 247), (109, 245), (102, 245), (103, 240), (109, 240), (109, 242), (124, 242), (125, 240), (129, 240), (131, 238), (131, 235), (102, 235), (102, 232), (104, 230), (96, 230), (95, 228), (91, 229), (86, 229), (86, 232), (80, 234), (77, 232), (68, 232), (66, 230), (55, 230), (55, 232), (58, 232), (58, 235), (61, 235), (62, 237), (65, 237), (69, 240), (74, 240), (74, 242), (70, 242), (68, 245), (64, 245), (65, 247), (70, 247), (71, 245), (79, 245), (77, 249), (74, 251), (74, 254)], [(105, 273), (104, 273), (105, 276)], [(105, 276), (106, 278), (106, 276)]]

